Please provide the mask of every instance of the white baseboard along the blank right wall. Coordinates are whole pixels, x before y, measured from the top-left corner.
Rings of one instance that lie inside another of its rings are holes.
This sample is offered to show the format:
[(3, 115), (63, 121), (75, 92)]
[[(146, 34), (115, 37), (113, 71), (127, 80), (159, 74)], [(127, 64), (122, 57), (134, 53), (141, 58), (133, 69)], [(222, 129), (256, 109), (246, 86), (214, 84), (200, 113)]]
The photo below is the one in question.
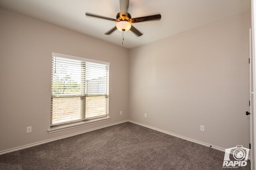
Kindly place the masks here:
[[(165, 130), (162, 130), (162, 129), (159, 129), (159, 128), (155, 128), (155, 127), (151, 127), (151, 126), (148, 126), (148, 125), (144, 125), (144, 124), (142, 124), (142, 123), (134, 122), (134, 121), (131, 121), (131, 120), (128, 120), (128, 122), (134, 123), (134, 124), (137, 124), (137, 125), (140, 125), (140, 126), (143, 126), (143, 127), (151, 128), (151, 129), (157, 130), (157, 131), (159, 131), (159, 132), (163, 132), (163, 133), (166, 133), (166, 134), (170, 134), (170, 135), (172, 135), (172, 136), (175, 136), (175, 137), (177, 137), (177, 138), (182, 138), (182, 139), (188, 140), (188, 141), (190, 141), (190, 142), (194, 142), (194, 143), (201, 144), (201, 145), (208, 146), (208, 147), (211, 146), (211, 148), (214, 148), (214, 149), (220, 150), (220, 151), (222, 151), (222, 152), (225, 152), (225, 149), (224, 149), (224, 148), (221, 148), (221, 147), (219, 147), (219, 146), (214, 146), (214, 145), (212, 145), (212, 144), (208, 144), (208, 143), (205, 143), (205, 142), (201, 142), (201, 141), (198, 141), (198, 140), (194, 140), (194, 139), (192, 139), (192, 138), (187, 138), (187, 137), (185, 137), (185, 136), (181, 136), (181, 135), (178, 135), (178, 134), (175, 134), (175, 133), (172, 133), (172, 132), (168, 132), (168, 131), (165, 131)], [(233, 152), (230, 152), (230, 154), (233, 154)], [(248, 159), (250, 160), (250, 155), (248, 156)]]

